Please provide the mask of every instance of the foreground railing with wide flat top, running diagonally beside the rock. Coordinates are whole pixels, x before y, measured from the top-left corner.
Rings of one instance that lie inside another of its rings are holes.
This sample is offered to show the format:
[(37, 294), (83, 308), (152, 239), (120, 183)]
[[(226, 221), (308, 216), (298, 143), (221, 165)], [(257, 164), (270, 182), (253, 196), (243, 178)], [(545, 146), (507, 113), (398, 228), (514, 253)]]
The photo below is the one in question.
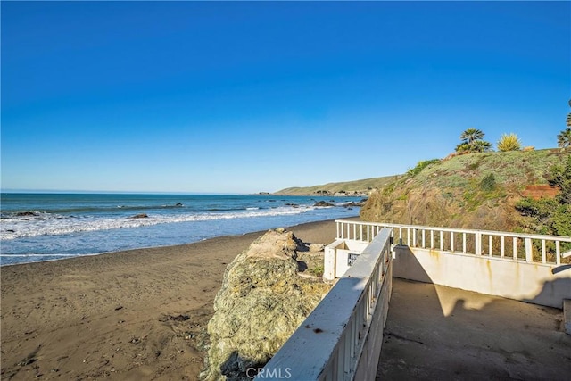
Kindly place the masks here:
[(380, 352), (382, 338), (368, 343), (368, 335), (377, 337), (383, 319), (382, 337), (386, 311), (379, 310), (388, 311), (392, 281), (391, 230), (379, 231), (256, 379), (352, 380), (357, 371), (376, 372), (378, 354), (371, 351)]

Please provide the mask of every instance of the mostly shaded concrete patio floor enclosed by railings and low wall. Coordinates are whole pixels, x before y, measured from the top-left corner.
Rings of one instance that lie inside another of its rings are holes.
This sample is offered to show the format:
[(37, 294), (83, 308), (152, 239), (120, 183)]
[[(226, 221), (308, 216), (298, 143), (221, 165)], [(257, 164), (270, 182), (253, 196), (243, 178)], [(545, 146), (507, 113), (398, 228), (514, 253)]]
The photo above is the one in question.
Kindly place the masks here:
[(393, 279), (377, 380), (571, 380), (563, 311)]

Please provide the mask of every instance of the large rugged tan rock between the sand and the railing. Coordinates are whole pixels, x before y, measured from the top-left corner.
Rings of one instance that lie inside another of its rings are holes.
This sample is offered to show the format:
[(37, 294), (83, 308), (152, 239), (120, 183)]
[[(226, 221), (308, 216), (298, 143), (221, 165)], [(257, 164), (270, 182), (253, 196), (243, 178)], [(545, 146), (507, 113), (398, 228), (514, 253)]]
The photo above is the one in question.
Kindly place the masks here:
[(329, 290), (298, 275), (291, 232), (269, 230), (228, 265), (208, 324), (211, 348), (203, 378), (247, 380), (294, 333)]

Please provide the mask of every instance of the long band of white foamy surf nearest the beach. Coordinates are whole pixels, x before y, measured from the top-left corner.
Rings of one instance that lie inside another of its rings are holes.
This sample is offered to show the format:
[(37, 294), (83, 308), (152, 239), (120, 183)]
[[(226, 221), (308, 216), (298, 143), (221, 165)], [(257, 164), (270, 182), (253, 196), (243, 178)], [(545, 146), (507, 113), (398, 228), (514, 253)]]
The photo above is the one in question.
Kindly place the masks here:
[(127, 216), (120, 217), (81, 217), (81, 218), (57, 218), (50, 215), (46, 218), (4, 218), (0, 239), (12, 240), (32, 236), (61, 236), (80, 232), (93, 232), (98, 230), (110, 230), (115, 228), (141, 228), (159, 224), (170, 224), (192, 221), (206, 221), (215, 219), (252, 219), (269, 216), (285, 216), (312, 211), (314, 207), (291, 208), (277, 207), (265, 210), (247, 210), (236, 212), (203, 212), (183, 214), (158, 214), (149, 215), (147, 218), (129, 219)]

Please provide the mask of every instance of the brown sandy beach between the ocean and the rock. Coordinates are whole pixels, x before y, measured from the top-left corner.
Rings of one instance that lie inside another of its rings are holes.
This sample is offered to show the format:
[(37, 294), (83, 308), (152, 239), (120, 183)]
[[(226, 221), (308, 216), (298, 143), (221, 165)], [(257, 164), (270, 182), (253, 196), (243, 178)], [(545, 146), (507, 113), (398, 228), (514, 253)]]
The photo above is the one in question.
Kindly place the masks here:
[[(288, 230), (335, 239), (334, 221)], [(2, 379), (196, 379), (224, 270), (261, 234), (3, 267)]]

